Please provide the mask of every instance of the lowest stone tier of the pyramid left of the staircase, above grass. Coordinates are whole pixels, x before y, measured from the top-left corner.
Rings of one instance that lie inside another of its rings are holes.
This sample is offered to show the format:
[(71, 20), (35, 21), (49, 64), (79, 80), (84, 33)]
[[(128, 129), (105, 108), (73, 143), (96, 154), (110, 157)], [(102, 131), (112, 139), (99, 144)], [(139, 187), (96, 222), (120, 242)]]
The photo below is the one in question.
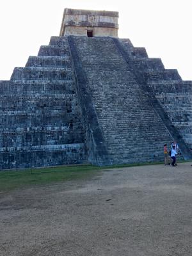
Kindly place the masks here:
[(25, 147), (22, 150), (14, 150), (6, 148), (1, 152), (1, 170), (87, 163), (84, 143), (55, 145), (55, 147)]

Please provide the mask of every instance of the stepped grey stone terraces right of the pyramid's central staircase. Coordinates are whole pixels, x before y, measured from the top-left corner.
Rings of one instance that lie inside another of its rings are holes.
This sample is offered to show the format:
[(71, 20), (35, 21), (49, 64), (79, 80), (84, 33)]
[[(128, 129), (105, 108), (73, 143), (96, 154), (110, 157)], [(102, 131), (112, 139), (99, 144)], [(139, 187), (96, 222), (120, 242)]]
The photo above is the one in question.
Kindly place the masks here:
[(147, 53), (136, 56), (130, 40), (119, 41), (129, 54), (141, 82), (152, 90), (174, 127), (192, 149), (192, 82), (182, 81), (177, 70), (166, 70), (160, 59), (148, 58)]

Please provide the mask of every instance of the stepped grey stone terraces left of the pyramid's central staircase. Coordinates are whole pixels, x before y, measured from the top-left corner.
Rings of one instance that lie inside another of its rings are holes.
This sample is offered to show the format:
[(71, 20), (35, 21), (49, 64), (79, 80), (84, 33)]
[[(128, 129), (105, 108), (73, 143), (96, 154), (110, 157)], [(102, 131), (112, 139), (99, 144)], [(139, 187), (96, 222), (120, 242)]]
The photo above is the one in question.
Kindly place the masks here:
[(0, 169), (87, 163), (67, 40), (57, 44), (0, 81)]

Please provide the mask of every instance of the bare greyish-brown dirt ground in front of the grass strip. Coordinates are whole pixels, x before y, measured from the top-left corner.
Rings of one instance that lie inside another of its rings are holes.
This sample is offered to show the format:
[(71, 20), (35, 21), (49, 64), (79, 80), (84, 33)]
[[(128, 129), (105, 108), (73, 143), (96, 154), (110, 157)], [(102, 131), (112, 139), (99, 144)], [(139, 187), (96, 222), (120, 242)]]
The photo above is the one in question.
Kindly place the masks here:
[(4, 193), (0, 255), (191, 256), (191, 163)]

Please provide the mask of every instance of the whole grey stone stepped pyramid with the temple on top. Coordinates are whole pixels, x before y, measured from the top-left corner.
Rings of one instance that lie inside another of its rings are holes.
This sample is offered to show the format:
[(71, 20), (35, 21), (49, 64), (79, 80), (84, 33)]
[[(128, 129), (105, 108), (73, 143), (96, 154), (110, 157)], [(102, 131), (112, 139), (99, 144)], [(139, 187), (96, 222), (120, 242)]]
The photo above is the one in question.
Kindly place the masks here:
[(65, 9), (60, 36), (0, 81), (0, 169), (192, 159), (192, 81), (118, 38), (118, 12)]

